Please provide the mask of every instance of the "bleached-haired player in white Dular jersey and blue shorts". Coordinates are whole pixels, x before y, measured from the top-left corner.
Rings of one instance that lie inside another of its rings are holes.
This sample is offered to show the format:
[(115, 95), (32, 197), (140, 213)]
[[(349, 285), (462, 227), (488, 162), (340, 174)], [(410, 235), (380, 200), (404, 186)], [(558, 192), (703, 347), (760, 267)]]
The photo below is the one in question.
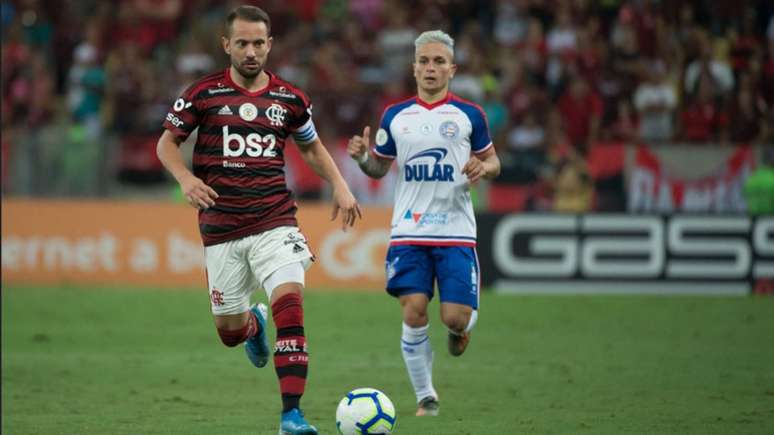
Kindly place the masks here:
[(417, 96), (385, 109), (373, 150), (365, 127), (349, 141), (347, 153), (374, 178), (397, 160), (386, 288), (403, 310), (401, 349), (417, 415), (424, 416), (439, 409), (427, 307), (437, 284), (449, 352), (462, 355), (478, 318), (480, 287), (470, 186), (496, 177), (500, 160), (484, 112), (449, 92), (457, 70), (454, 40), (433, 30), (414, 45)]

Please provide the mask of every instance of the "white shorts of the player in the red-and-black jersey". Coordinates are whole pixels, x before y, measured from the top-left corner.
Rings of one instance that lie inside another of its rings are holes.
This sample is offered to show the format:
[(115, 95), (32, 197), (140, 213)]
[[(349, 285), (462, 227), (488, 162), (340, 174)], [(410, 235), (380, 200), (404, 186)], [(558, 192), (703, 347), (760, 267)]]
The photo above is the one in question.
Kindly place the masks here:
[[(250, 308), (250, 295), (256, 288), (271, 292), (284, 282), (283, 278), (298, 282), (299, 273), (283, 266), (298, 263), (301, 271), (312, 264), (312, 252), (306, 238), (297, 227), (278, 227), (260, 234), (231, 240), (204, 248), (207, 266), (207, 287), (210, 292), (212, 314), (239, 314)], [(272, 276), (282, 269), (281, 277)], [(303, 273), (300, 274), (303, 285)]]

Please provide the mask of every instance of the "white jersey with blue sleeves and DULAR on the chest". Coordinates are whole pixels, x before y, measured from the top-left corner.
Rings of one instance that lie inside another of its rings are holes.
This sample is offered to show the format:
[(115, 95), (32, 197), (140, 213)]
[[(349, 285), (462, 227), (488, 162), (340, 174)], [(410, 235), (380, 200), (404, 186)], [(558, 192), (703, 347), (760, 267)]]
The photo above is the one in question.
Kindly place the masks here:
[(476, 220), (462, 168), (492, 146), (483, 110), (451, 93), (385, 109), (374, 153), (397, 159), (391, 245), (475, 246)]

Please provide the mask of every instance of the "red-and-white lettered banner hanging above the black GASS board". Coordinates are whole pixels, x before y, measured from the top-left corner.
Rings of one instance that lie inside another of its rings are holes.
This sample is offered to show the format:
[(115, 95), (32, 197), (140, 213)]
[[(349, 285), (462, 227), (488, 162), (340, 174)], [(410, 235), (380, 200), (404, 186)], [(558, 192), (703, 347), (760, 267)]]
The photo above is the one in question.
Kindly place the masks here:
[(681, 179), (666, 174), (661, 159), (640, 146), (629, 177), (629, 211), (744, 212), (744, 182), (754, 167), (752, 147), (740, 146), (711, 174)]

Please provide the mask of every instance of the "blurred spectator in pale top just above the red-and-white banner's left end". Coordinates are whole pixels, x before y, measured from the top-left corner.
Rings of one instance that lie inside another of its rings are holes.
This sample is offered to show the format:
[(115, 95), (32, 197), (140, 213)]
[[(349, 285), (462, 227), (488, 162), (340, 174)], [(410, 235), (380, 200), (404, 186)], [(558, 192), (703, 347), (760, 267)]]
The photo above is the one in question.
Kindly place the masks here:
[(652, 64), (645, 77), (634, 94), (634, 107), (640, 115), (640, 139), (648, 144), (662, 143), (674, 135), (677, 95), (662, 64)]

